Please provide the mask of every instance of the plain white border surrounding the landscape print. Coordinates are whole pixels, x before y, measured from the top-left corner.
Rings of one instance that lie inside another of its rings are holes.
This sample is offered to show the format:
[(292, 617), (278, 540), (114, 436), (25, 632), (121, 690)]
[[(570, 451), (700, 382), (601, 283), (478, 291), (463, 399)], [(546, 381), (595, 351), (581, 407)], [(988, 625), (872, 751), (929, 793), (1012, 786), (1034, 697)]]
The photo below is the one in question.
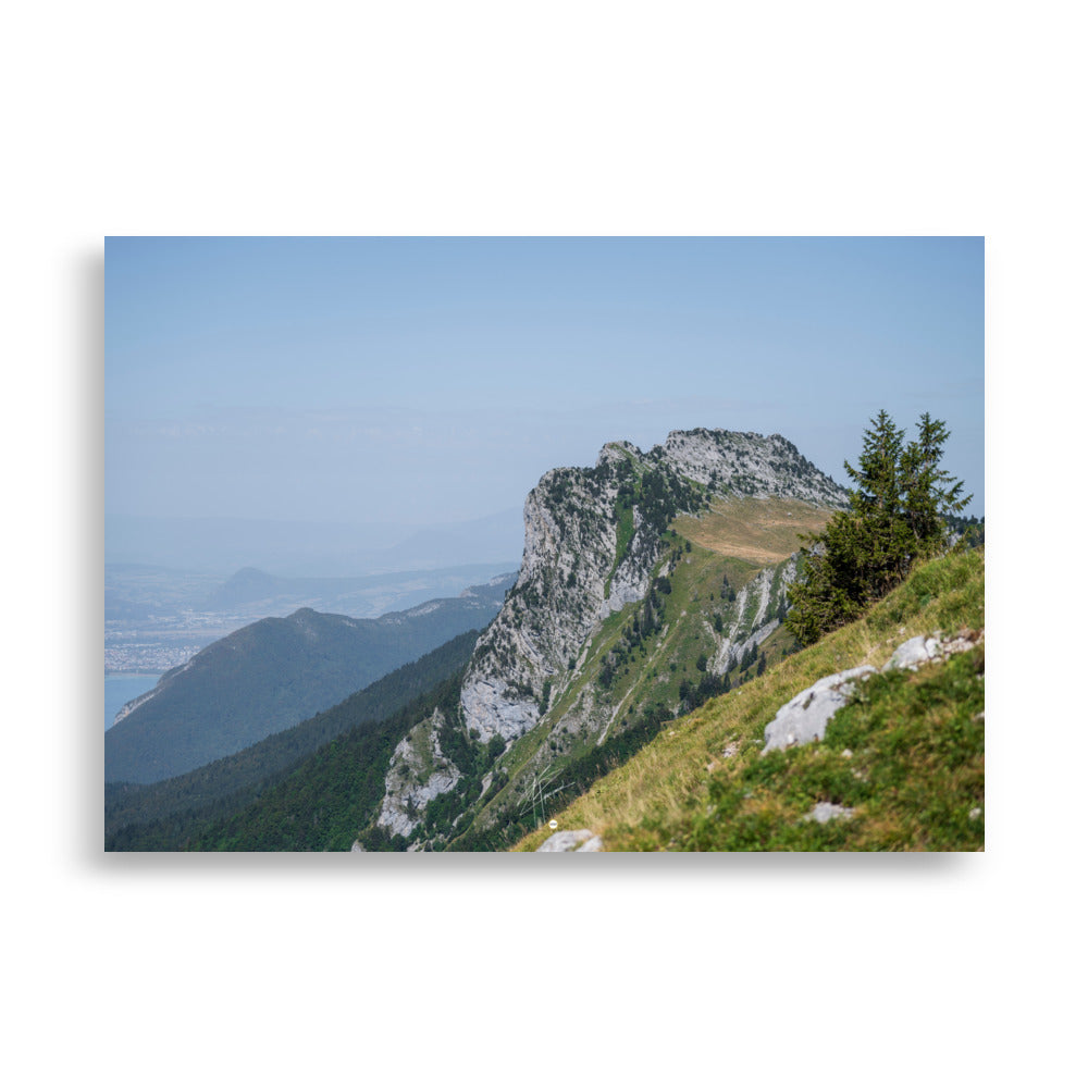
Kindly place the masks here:
[[(1063, 617), (1079, 611), (1072, 11), (198, 2), (14, 16), (0, 78), (20, 1083), (458, 1067), (529, 1084), (1067, 1079), (1062, 981), (1083, 941), (1064, 852), (1084, 754), (1075, 704), (1059, 702), (1075, 644)], [(83, 636), (100, 632), (95, 270), (102, 236), (126, 233), (986, 235), (987, 853), (616, 860), (590, 877), (532, 860), (104, 864), (87, 849), (74, 727), (98, 673)]]

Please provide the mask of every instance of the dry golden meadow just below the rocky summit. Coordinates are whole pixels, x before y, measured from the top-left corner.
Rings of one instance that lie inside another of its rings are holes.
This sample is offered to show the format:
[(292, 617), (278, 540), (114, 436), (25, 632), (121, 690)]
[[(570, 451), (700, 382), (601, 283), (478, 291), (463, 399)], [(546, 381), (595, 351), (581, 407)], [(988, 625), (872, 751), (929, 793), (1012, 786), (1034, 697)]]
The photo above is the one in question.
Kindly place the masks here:
[(677, 518), (673, 529), (718, 555), (767, 565), (801, 547), (800, 533), (819, 532), (830, 511), (792, 498), (718, 499), (698, 518)]

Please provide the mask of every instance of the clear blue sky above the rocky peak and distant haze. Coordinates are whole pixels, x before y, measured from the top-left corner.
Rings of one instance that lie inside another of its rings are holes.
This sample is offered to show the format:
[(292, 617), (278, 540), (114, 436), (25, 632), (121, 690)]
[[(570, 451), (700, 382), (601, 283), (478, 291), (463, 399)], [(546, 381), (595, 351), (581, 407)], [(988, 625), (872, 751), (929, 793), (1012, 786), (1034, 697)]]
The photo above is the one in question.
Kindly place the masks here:
[(119, 516), (424, 524), (693, 426), (837, 480), (948, 422), (981, 515), (981, 238), (109, 238)]

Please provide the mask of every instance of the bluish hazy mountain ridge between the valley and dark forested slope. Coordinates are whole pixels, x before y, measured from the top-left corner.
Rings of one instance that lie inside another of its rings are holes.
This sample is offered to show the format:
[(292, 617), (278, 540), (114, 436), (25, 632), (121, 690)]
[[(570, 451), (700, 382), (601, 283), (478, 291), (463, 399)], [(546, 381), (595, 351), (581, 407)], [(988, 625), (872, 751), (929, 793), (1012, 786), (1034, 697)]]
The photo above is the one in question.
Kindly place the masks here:
[(479, 628), (514, 577), (378, 619), (301, 608), (220, 639), (122, 708), (106, 733), (107, 781), (160, 781), (297, 725)]

